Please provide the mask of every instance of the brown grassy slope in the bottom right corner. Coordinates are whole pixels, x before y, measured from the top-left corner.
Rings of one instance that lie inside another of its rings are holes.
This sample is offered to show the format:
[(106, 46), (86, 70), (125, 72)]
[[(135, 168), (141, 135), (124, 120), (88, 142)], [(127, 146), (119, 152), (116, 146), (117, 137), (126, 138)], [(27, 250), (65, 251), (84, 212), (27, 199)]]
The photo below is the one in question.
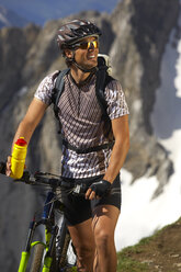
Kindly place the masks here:
[(118, 253), (117, 272), (181, 271), (181, 218)]

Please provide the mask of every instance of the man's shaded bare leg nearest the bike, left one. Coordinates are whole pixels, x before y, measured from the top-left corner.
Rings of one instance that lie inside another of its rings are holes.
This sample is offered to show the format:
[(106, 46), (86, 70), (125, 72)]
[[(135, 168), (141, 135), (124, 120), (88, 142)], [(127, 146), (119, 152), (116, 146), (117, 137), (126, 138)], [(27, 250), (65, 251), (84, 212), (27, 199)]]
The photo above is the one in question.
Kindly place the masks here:
[(68, 226), (77, 252), (77, 264), (81, 272), (93, 272), (95, 246), (91, 224), (92, 219), (88, 219), (75, 226)]

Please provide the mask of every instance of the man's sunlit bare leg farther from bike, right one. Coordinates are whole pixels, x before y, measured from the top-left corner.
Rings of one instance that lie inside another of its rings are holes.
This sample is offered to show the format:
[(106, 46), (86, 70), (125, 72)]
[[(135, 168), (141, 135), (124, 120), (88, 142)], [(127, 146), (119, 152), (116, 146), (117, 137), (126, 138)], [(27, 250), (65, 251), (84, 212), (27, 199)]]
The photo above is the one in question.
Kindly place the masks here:
[(116, 250), (114, 230), (120, 209), (113, 205), (100, 205), (93, 211), (92, 229), (97, 254), (94, 272), (116, 272)]

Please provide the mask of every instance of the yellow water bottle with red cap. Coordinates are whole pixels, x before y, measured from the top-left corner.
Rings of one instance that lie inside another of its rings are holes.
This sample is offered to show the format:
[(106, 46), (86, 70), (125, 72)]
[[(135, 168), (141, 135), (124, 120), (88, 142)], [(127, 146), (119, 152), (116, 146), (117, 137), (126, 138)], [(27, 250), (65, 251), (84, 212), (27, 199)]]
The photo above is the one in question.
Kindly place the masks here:
[(24, 137), (20, 137), (14, 146), (11, 158), (11, 174), (13, 179), (21, 179), (25, 166), (25, 157), (27, 152), (27, 143)]

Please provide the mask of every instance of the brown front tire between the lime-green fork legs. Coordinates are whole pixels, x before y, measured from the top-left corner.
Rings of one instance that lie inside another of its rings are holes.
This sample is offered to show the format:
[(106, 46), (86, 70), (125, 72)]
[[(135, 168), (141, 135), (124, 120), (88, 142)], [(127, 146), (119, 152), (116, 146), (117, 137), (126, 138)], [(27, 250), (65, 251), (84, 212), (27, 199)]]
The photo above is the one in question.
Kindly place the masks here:
[(35, 245), (30, 272), (41, 271), (43, 256), (44, 256), (44, 245), (42, 243)]

